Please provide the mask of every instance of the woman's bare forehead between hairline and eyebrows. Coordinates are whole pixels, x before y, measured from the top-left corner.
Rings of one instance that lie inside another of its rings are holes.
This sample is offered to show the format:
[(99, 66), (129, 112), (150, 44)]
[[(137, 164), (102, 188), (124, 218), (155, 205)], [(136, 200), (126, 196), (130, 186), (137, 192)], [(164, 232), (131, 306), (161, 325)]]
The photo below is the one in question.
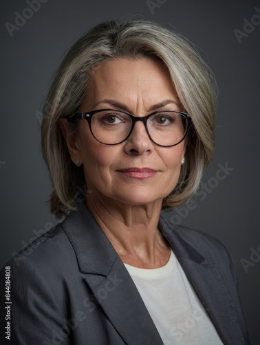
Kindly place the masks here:
[(87, 92), (89, 102), (117, 99), (124, 102), (158, 103), (177, 101), (167, 68), (151, 58), (113, 59), (94, 68)]

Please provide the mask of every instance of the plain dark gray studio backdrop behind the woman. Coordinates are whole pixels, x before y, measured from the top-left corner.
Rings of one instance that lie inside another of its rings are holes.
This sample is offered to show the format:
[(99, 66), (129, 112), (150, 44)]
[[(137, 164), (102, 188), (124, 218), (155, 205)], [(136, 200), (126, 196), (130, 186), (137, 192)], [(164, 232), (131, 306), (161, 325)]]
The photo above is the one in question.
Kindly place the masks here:
[[(237, 265), (250, 338), (259, 344), (260, 256), (252, 257), (253, 262), (250, 254), (252, 248), (260, 251), (260, 18), (252, 18), (256, 7), (260, 12), (260, 3), (154, 2), (158, 7), (152, 13), (146, 0), (45, 0), (10, 37), (5, 23), (14, 24), (15, 12), (22, 14), (29, 6), (25, 1), (1, 1), (0, 264), (56, 222), (47, 205), (50, 181), (36, 114), (64, 52), (87, 28), (105, 19), (137, 15), (164, 23), (195, 44), (219, 85), (215, 156), (203, 178), (214, 187), (204, 200), (193, 198), (194, 210), (182, 206), (166, 216), (214, 235), (228, 247)], [(254, 26), (246, 28), (251, 32), (239, 43), (234, 30), (243, 31), (244, 19), (253, 20)], [(226, 179), (212, 179), (225, 163), (234, 170)], [(241, 259), (248, 260), (247, 269)]]

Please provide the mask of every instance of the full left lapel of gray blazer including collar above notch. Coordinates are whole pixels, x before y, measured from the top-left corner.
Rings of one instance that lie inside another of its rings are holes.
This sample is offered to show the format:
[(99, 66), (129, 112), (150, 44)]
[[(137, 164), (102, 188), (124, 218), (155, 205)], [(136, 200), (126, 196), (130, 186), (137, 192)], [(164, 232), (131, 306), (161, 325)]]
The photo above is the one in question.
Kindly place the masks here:
[[(87, 230), (86, 230), (87, 224)], [(93, 295), (124, 342), (163, 345), (131, 276), (85, 206), (63, 222)]]

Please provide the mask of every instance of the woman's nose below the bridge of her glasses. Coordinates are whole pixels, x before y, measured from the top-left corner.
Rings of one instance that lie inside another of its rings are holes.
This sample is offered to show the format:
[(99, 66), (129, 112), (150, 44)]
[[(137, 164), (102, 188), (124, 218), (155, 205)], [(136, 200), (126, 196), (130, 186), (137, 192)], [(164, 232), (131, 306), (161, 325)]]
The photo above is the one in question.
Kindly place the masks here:
[(149, 138), (147, 130), (142, 121), (136, 121), (131, 135), (125, 143), (124, 150), (129, 155), (149, 155), (153, 152), (153, 142)]

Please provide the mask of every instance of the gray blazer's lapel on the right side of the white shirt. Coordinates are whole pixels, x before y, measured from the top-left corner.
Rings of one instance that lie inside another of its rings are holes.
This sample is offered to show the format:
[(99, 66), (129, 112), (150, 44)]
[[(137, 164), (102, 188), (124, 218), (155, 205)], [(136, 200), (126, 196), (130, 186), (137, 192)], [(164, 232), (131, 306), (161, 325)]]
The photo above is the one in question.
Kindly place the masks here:
[[(173, 226), (160, 219), (160, 229), (182, 265), (199, 299), (217, 329), (224, 344), (246, 344), (237, 319), (234, 297), (237, 295), (228, 286), (219, 272), (214, 259), (206, 259), (194, 246), (191, 246)], [(199, 247), (199, 244), (197, 244)], [(239, 304), (239, 301), (237, 300)]]

